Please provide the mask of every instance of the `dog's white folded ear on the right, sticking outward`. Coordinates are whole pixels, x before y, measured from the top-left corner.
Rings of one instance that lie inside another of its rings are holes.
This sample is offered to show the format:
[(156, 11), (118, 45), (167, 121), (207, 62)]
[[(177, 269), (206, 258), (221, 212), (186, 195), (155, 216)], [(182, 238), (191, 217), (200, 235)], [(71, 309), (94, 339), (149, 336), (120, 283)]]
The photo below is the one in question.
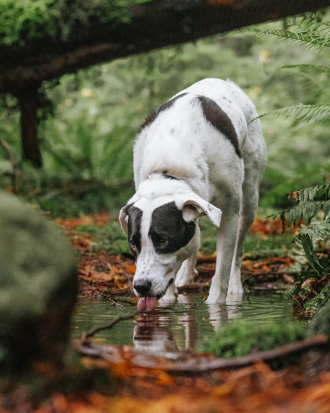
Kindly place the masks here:
[(214, 207), (210, 202), (191, 193), (181, 197), (177, 206), (182, 210), (183, 217), (186, 221), (191, 221), (192, 217), (199, 218), (202, 215), (207, 215), (212, 223), (219, 228), (221, 222), (222, 211)]

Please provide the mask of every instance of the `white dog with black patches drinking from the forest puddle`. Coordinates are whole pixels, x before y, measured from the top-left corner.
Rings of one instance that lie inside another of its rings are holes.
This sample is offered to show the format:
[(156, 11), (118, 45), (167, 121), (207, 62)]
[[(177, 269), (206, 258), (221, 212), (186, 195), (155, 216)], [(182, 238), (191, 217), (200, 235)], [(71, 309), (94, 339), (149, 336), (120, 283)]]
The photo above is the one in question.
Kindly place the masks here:
[[(134, 143), (136, 193), (119, 220), (136, 258), (139, 311), (194, 279), (198, 219), (217, 227), (209, 303), (242, 295), (243, 244), (257, 211), (266, 148), (255, 106), (235, 83), (204, 79), (151, 113)], [(212, 202), (212, 204), (210, 203)], [(174, 283), (175, 280), (175, 283)]]

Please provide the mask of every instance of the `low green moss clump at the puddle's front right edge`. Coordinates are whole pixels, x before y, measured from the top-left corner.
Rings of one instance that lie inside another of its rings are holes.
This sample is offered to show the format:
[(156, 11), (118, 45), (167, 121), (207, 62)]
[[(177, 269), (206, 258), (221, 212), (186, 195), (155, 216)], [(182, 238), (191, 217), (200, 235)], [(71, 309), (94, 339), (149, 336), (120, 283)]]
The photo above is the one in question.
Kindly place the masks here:
[(212, 352), (216, 357), (242, 357), (252, 351), (266, 351), (293, 343), (306, 336), (303, 323), (283, 323), (282, 320), (260, 325), (234, 319), (222, 326), (207, 342), (202, 351)]

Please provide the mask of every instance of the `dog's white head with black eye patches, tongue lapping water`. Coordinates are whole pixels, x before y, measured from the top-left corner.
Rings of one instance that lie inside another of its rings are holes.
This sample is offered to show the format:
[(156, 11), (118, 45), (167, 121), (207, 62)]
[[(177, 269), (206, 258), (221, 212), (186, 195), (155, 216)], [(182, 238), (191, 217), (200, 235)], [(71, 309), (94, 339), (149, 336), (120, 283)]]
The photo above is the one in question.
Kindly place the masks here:
[(119, 221), (136, 258), (134, 293), (147, 297), (147, 308), (156, 305), (181, 263), (197, 252), (198, 218), (207, 215), (219, 227), (221, 214), (182, 181), (165, 178), (144, 181), (120, 210)]

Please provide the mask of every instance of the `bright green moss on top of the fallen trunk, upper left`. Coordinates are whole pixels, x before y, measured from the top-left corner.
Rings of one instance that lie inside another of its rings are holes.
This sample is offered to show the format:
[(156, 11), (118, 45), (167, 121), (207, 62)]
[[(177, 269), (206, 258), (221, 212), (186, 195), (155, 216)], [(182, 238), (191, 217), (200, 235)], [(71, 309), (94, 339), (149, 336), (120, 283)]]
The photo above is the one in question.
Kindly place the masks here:
[(0, 44), (24, 45), (50, 37), (67, 41), (75, 31), (95, 24), (130, 21), (129, 7), (149, 0), (1, 0)]

